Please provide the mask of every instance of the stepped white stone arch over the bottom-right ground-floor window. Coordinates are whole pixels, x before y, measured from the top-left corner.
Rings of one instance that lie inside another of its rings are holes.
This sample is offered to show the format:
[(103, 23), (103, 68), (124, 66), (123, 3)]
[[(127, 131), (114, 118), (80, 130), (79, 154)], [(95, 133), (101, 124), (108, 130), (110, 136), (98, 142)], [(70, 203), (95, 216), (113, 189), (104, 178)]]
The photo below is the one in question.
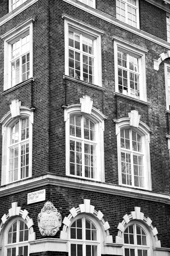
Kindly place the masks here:
[(116, 236), (116, 243), (117, 244), (123, 244), (122, 241), (122, 233), (125, 230), (125, 226), (127, 223), (129, 223), (130, 221), (141, 221), (146, 227), (147, 229), (150, 231), (151, 236), (153, 236), (154, 238), (154, 246), (156, 247), (161, 247), (161, 242), (158, 240), (157, 238), (157, 234), (158, 231), (156, 229), (156, 227), (153, 227), (152, 220), (149, 217), (144, 217), (144, 213), (140, 211), (141, 208), (140, 207), (135, 207), (135, 210), (133, 212), (131, 212), (129, 215), (125, 215), (123, 216), (123, 221), (121, 223), (119, 223), (117, 229), (118, 229), (118, 234)]

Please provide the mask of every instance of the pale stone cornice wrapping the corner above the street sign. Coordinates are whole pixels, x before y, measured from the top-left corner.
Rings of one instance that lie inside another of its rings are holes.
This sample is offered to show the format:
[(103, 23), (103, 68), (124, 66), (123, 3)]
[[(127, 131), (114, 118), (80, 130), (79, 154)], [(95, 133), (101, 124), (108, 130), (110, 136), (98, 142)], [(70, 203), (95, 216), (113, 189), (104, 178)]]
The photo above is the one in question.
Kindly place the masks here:
[(170, 204), (170, 195), (154, 193), (151, 191), (133, 189), (124, 186), (115, 186), (113, 184), (95, 182), (91, 180), (71, 178), (68, 176), (61, 177), (51, 173), (39, 177), (32, 177), (18, 182), (10, 183), (6, 186), (0, 187), (0, 197), (14, 194), (28, 189), (35, 189), (45, 185), (70, 187), (75, 189), (83, 189), (96, 191), (101, 193), (108, 193), (112, 195), (120, 195), (132, 198), (139, 198), (143, 200), (159, 201), (164, 204)]

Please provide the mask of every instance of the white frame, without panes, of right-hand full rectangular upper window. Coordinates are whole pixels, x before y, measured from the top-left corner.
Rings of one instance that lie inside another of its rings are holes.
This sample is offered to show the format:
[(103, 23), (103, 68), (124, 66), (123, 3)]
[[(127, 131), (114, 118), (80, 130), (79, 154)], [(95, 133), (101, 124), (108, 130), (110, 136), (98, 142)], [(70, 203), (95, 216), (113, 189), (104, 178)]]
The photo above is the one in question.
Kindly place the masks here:
[[(116, 37), (112, 37), (114, 40), (114, 64), (115, 64), (115, 92), (119, 93), (119, 85), (118, 85), (118, 55), (117, 51), (121, 50), (130, 55), (139, 59), (139, 92), (140, 96), (138, 100), (147, 101), (147, 93), (146, 93), (146, 71), (145, 71), (145, 52), (146, 49), (141, 47), (137, 47), (136, 45), (129, 44), (128, 42), (121, 40)], [(130, 82), (130, 81), (128, 81)], [(130, 96), (130, 87), (128, 87), (128, 93), (121, 95), (125, 95), (130, 97), (130, 99), (136, 99), (135, 97)]]

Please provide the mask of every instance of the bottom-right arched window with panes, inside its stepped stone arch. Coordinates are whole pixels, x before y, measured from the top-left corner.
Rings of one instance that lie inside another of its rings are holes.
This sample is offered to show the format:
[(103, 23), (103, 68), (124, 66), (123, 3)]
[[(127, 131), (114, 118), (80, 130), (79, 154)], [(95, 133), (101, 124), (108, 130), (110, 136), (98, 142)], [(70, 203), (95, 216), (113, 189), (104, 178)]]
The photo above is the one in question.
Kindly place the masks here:
[(141, 224), (129, 224), (123, 233), (124, 256), (150, 255), (150, 235)]

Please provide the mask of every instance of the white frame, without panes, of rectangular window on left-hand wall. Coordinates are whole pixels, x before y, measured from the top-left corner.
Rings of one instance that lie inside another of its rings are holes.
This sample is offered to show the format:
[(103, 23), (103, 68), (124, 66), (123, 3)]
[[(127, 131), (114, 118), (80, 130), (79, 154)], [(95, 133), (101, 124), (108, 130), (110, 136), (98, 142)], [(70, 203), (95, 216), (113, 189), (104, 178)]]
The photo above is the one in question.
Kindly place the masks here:
[[(7, 90), (9, 88), (12, 88), (11, 86), (11, 44), (13, 44), (15, 41), (17, 41), (19, 38), (24, 37), (25, 35), (29, 34), (30, 37), (30, 73), (29, 73), (29, 79), (33, 77), (33, 19), (31, 18), (23, 24), (22, 26), (18, 27), (17, 29), (14, 29), (12, 31), (7, 32), (5, 35), (2, 35), (1, 38), (4, 39), (4, 90)], [(21, 54), (20, 54), (21, 56)], [(20, 76), (21, 78), (21, 76)], [(26, 79), (28, 80), (28, 79)], [(26, 81), (25, 80), (25, 81)], [(23, 82), (25, 82), (23, 81)], [(20, 83), (21, 83), (20, 79)], [(15, 84), (14, 86), (16, 86)], [(13, 86), (13, 87), (14, 87)]]

